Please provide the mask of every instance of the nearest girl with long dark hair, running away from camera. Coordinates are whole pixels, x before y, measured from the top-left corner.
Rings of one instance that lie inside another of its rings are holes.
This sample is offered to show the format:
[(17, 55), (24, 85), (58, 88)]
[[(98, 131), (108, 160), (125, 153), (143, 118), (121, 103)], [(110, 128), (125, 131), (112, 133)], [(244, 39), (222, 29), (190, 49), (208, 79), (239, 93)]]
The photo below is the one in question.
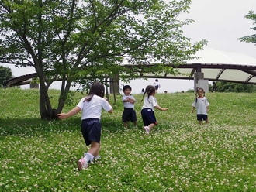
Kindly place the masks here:
[(76, 115), (79, 111), (81, 114), (81, 132), (85, 139), (86, 146), (91, 145), (87, 153), (78, 160), (78, 170), (83, 170), (92, 163), (94, 159), (99, 159), (101, 129), (100, 118), (102, 108), (109, 113), (113, 109), (109, 102), (104, 98), (105, 87), (103, 84), (96, 82), (92, 84), (88, 95), (82, 98), (76, 107), (68, 113), (58, 114), (58, 118), (64, 119)]

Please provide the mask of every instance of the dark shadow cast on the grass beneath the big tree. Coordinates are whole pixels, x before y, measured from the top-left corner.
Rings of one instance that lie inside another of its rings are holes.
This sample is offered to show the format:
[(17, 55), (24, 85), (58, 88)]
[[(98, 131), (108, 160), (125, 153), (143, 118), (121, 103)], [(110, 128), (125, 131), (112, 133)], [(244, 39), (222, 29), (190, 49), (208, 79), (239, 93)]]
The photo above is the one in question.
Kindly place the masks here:
[[(117, 132), (123, 129), (123, 122), (115, 119), (103, 118), (102, 129)], [(129, 129), (133, 128), (130, 122)], [(16, 136), (47, 136), (53, 132), (81, 132), (81, 118), (71, 117), (64, 120), (42, 120), (40, 118), (1, 118), (0, 137), (7, 135)]]

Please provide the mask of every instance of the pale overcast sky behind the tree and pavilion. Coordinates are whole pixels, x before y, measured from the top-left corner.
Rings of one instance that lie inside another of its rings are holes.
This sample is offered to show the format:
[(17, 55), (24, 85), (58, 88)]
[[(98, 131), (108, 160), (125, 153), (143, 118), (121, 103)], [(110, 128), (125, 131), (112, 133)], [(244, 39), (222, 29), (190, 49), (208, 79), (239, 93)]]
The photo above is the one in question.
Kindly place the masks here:
[[(256, 12), (255, 0), (192, 0), (189, 14), (180, 15), (179, 18), (195, 21), (183, 28), (184, 36), (191, 38), (192, 42), (206, 39), (207, 46), (213, 49), (244, 53), (256, 58), (254, 43), (240, 43), (238, 40), (240, 37), (253, 34), (250, 29), (253, 21), (244, 18), (250, 10)], [(17, 69), (11, 65), (2, 65), (11, 68), (14, 77), (35, 72), (33, 68)], [(142, 88), (153, 83), (154, 79), (148, 79), (131, 81), (129, 84), (132, 87), (132, 93), (139, 94)], [(121, 82), (121, 84), (126, 83)], [(159, 79), (159, 84), (161, 84), (159, 93), (188, 91), (194, 87), (192, 80)], [(51, 86), (56, 89), (58, 87), (61, 85), (57, 82)], [(29, 86), (22, 86), (22, 88), (29, 88)]]

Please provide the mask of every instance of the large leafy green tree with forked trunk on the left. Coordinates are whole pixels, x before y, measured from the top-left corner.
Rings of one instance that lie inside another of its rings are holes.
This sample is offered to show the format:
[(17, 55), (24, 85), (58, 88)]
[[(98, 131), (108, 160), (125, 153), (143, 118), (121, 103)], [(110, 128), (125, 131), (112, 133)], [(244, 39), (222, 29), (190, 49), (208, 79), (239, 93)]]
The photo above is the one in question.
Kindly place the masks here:
[[(182, 26), (192, 20), (177, 17), (188, 12), (190, 4), (191, 0), (0, 0), (0, 62), (35, 68), (41, 118), (54, 118), (72, 83), (116, 74), (134, 79), (140, 77), (137, 68), (173, 74), (168, 65), (192, 59), (205, 41), (190, 43), (182, 35)], [(145, 67), (156, 62), (161, 64)], [(54, 110), (48, 89), (57, 79), (62, 84)]]

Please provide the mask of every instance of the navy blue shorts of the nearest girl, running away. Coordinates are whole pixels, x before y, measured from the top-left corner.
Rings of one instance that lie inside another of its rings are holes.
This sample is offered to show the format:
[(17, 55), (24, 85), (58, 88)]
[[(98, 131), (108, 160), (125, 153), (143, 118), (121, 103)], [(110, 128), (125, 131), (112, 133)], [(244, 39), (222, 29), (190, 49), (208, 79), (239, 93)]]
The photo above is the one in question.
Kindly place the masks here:
[(81, 121), (81, 133), (85, 139), (86, 146), (92, 141), (100, 143), (102, 125), (98, 118), (88, 118)]

